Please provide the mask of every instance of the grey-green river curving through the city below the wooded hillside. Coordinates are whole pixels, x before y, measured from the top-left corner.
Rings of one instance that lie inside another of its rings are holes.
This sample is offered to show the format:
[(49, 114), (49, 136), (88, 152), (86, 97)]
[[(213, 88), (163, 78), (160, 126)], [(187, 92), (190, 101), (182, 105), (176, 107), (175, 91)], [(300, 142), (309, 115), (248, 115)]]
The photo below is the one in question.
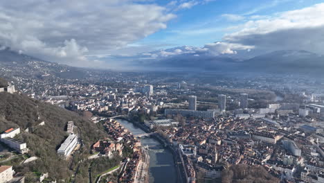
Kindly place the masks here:
[[(120, 125), (123, 125), (132, 134), (145, 133), (141, 128), (136, 127), (133, 123), (123, 119), (116, 119)], [(142, 146), (149, 146), (150, 168), (149, 182), (156, 183), (176, 183), (177, 170), (174, 165), (173, 155), (167, 148), (164, 148), (156, 139), (145, 137), (141, 138)]]

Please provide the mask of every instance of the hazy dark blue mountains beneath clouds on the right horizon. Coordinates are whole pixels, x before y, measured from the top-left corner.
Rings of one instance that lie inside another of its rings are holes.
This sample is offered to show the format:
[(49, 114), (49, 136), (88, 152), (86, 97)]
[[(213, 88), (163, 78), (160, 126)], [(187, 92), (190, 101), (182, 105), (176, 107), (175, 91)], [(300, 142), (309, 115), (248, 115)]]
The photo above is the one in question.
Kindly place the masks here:
[(192, 71), (324, 74), (324, 57), (309, 51), (273, 51), (252, 58), (249, 58), (252, 54), (242, 55), (241, 58), (240, 55), (211, 55), (206, 51), (199, 53), (194, 51), (165, 58), (140, 60), (137, 63), (147, 68), (186, 69)]

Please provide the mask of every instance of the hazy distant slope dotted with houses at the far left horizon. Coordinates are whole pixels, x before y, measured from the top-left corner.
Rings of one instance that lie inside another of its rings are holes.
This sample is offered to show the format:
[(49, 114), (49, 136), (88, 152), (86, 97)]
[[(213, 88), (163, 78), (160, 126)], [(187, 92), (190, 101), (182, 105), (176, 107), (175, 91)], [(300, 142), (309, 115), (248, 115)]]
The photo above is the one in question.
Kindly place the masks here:
[(84, 78), (87, 71), (63, 64), (47, 62), (10, 49), (0, 50), (0, 73), (26, 78), (60, 77)]

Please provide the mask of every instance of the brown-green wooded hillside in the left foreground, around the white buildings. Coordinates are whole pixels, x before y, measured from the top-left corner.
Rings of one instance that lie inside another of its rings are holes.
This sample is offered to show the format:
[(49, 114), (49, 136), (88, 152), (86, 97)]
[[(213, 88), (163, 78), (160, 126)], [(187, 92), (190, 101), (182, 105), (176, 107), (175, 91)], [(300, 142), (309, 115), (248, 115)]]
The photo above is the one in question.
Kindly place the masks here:
[[(45, 125), (38, 125), (42, 121)], [(68, 162), (57, 156), (56, 150), (67, 137), (66, 122), (74, 121), (78, 127), (78, 135), (84, 141), (84, 146), (78, 153), (80, 159), (89, 155), (89, 147), (98, 139), (105, 137), (105, 131), (100, 125), (82, 119), (81, 116), (55, 105), (35, 101), (19, 94), (0, 93), (0, 131), (8, 128), (21, 128), (19, 137), (27, 143), (29, 156), (39, 157), (35, 162), (13, 164), (16, 172), (23, 173), (28, 182), (28, 173), (48, 172), (53, 180), (69, 180), (74, 171), (69, 170)], [(29, 132), (24, 132), (29, 128)], [(33, 130), (31, 130), (33, 129)], [(79, 159), (79, 160), (80, 160)], [(78, 159), (75, 160), (78, 162)], [(73, 167), (75, 168), (75, 167)], [(87, 172), (79, 173), (86, 177)], [(86, 182), (86, 181), (79, 182)], [(61, 182), (61, 181), (58, 181)]]

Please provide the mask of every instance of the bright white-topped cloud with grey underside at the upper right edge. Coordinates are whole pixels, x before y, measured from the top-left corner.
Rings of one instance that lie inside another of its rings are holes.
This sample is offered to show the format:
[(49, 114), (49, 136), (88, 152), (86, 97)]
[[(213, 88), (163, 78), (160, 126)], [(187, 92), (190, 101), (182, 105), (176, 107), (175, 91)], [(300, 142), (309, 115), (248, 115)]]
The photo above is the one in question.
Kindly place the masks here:
[(324, 3), (319, 3), (273, 17), (248, 21), (240, 26), (241, 30), (226, 35), (223, 40), (267, 51), (303, 49), (323, 54), (323, 17)]

